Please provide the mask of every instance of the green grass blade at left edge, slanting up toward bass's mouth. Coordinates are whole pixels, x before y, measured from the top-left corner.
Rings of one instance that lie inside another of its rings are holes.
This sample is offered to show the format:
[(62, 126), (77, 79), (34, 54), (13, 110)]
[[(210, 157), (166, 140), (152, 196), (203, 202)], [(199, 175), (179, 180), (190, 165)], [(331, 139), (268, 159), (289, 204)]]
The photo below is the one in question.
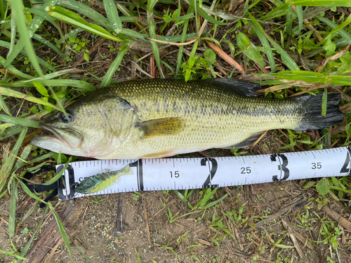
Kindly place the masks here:
[(18, 150), (20, 149), (20, 146), (22, 145), (23, 140), (25, 140), (25, 135), (27, 134), (27, 127), (22, 127), (22, 130), (20, 132), (20, 135), (18, 136), (17, 141), (15, 142), (15, 145), (13, 146), (13, 149), (11, 151), (11, 155), (8, 155), (8, 158), (4, 161), (3, 166), (1, 167), (0, 170), (0, 193), (3, 191), (6, 180), (8, 178), (8, 175), (10, 175), (11, 170), (13, 168), (13, 164), (15, 163), (15, 156), (18, 154)]

